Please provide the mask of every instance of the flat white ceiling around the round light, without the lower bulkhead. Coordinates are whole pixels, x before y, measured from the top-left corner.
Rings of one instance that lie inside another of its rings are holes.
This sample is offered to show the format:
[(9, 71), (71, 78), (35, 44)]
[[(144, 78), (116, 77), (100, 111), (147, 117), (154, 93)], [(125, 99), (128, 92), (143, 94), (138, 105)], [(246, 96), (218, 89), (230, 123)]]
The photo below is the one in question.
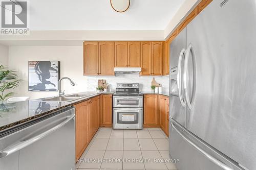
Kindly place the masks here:
[(118, 13), (110, 0), (29, 1), (30, 30), (164, 30), (185, 0), (131, 0)]

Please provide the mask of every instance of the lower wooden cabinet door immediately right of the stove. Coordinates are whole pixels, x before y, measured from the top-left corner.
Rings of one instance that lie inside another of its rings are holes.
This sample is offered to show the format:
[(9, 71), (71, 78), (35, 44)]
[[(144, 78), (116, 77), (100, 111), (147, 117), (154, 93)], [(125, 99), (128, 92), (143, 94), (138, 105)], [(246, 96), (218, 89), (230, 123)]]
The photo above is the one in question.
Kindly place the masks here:
[(158, 108), (157, 95), (144, 95), (144, 126), (154, 127), (158, 126)]

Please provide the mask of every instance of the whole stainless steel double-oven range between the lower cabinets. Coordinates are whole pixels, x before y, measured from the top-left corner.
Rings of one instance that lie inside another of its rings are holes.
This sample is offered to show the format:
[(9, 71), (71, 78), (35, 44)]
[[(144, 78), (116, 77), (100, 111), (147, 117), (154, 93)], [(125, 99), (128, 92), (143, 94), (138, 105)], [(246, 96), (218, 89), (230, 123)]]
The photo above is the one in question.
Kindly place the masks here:
[(117, 83), (113, 94), (113, 129), (142, 129), (143, 94), (139, 83)]

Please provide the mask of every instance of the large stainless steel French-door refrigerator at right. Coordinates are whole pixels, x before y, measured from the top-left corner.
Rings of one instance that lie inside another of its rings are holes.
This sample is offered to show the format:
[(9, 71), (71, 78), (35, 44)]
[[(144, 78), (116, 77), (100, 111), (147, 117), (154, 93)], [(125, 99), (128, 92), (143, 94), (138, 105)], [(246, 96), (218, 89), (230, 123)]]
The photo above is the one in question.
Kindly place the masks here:
[(181, 170), (256, 169), (256, 1), (212, 1), (170, 44)]

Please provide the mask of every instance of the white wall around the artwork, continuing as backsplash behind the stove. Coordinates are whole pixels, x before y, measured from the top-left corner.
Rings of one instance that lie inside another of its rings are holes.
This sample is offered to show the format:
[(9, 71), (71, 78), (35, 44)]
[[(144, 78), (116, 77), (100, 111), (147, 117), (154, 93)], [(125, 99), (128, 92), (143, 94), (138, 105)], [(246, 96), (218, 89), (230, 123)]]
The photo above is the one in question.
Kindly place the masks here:
[[(150, 90), (152, 76), (139, 77), (138, 75), (122, 76), (83, 76), (82, 46), (10, 46), (9, 67), (18, 71), (23, 82), (16, 89), (17, 96), (30, 96), (31, 99), (57, 95), (57, 92), (28, 91), (28, 61), (30, 60), (57, 60), (60, 61), (60, 77), (71, 78), (76, 85), (72, 87), (67, 80), (62, 81), (62, 89), (66, 94), (82, 91), (95, 91), (98, 79), (105, 79), (115, 89), (116, 82), (141, 83), (140, 90)], [(168, 91), (168, 77), (156, 77), (161, 83), (163, 91)]]

